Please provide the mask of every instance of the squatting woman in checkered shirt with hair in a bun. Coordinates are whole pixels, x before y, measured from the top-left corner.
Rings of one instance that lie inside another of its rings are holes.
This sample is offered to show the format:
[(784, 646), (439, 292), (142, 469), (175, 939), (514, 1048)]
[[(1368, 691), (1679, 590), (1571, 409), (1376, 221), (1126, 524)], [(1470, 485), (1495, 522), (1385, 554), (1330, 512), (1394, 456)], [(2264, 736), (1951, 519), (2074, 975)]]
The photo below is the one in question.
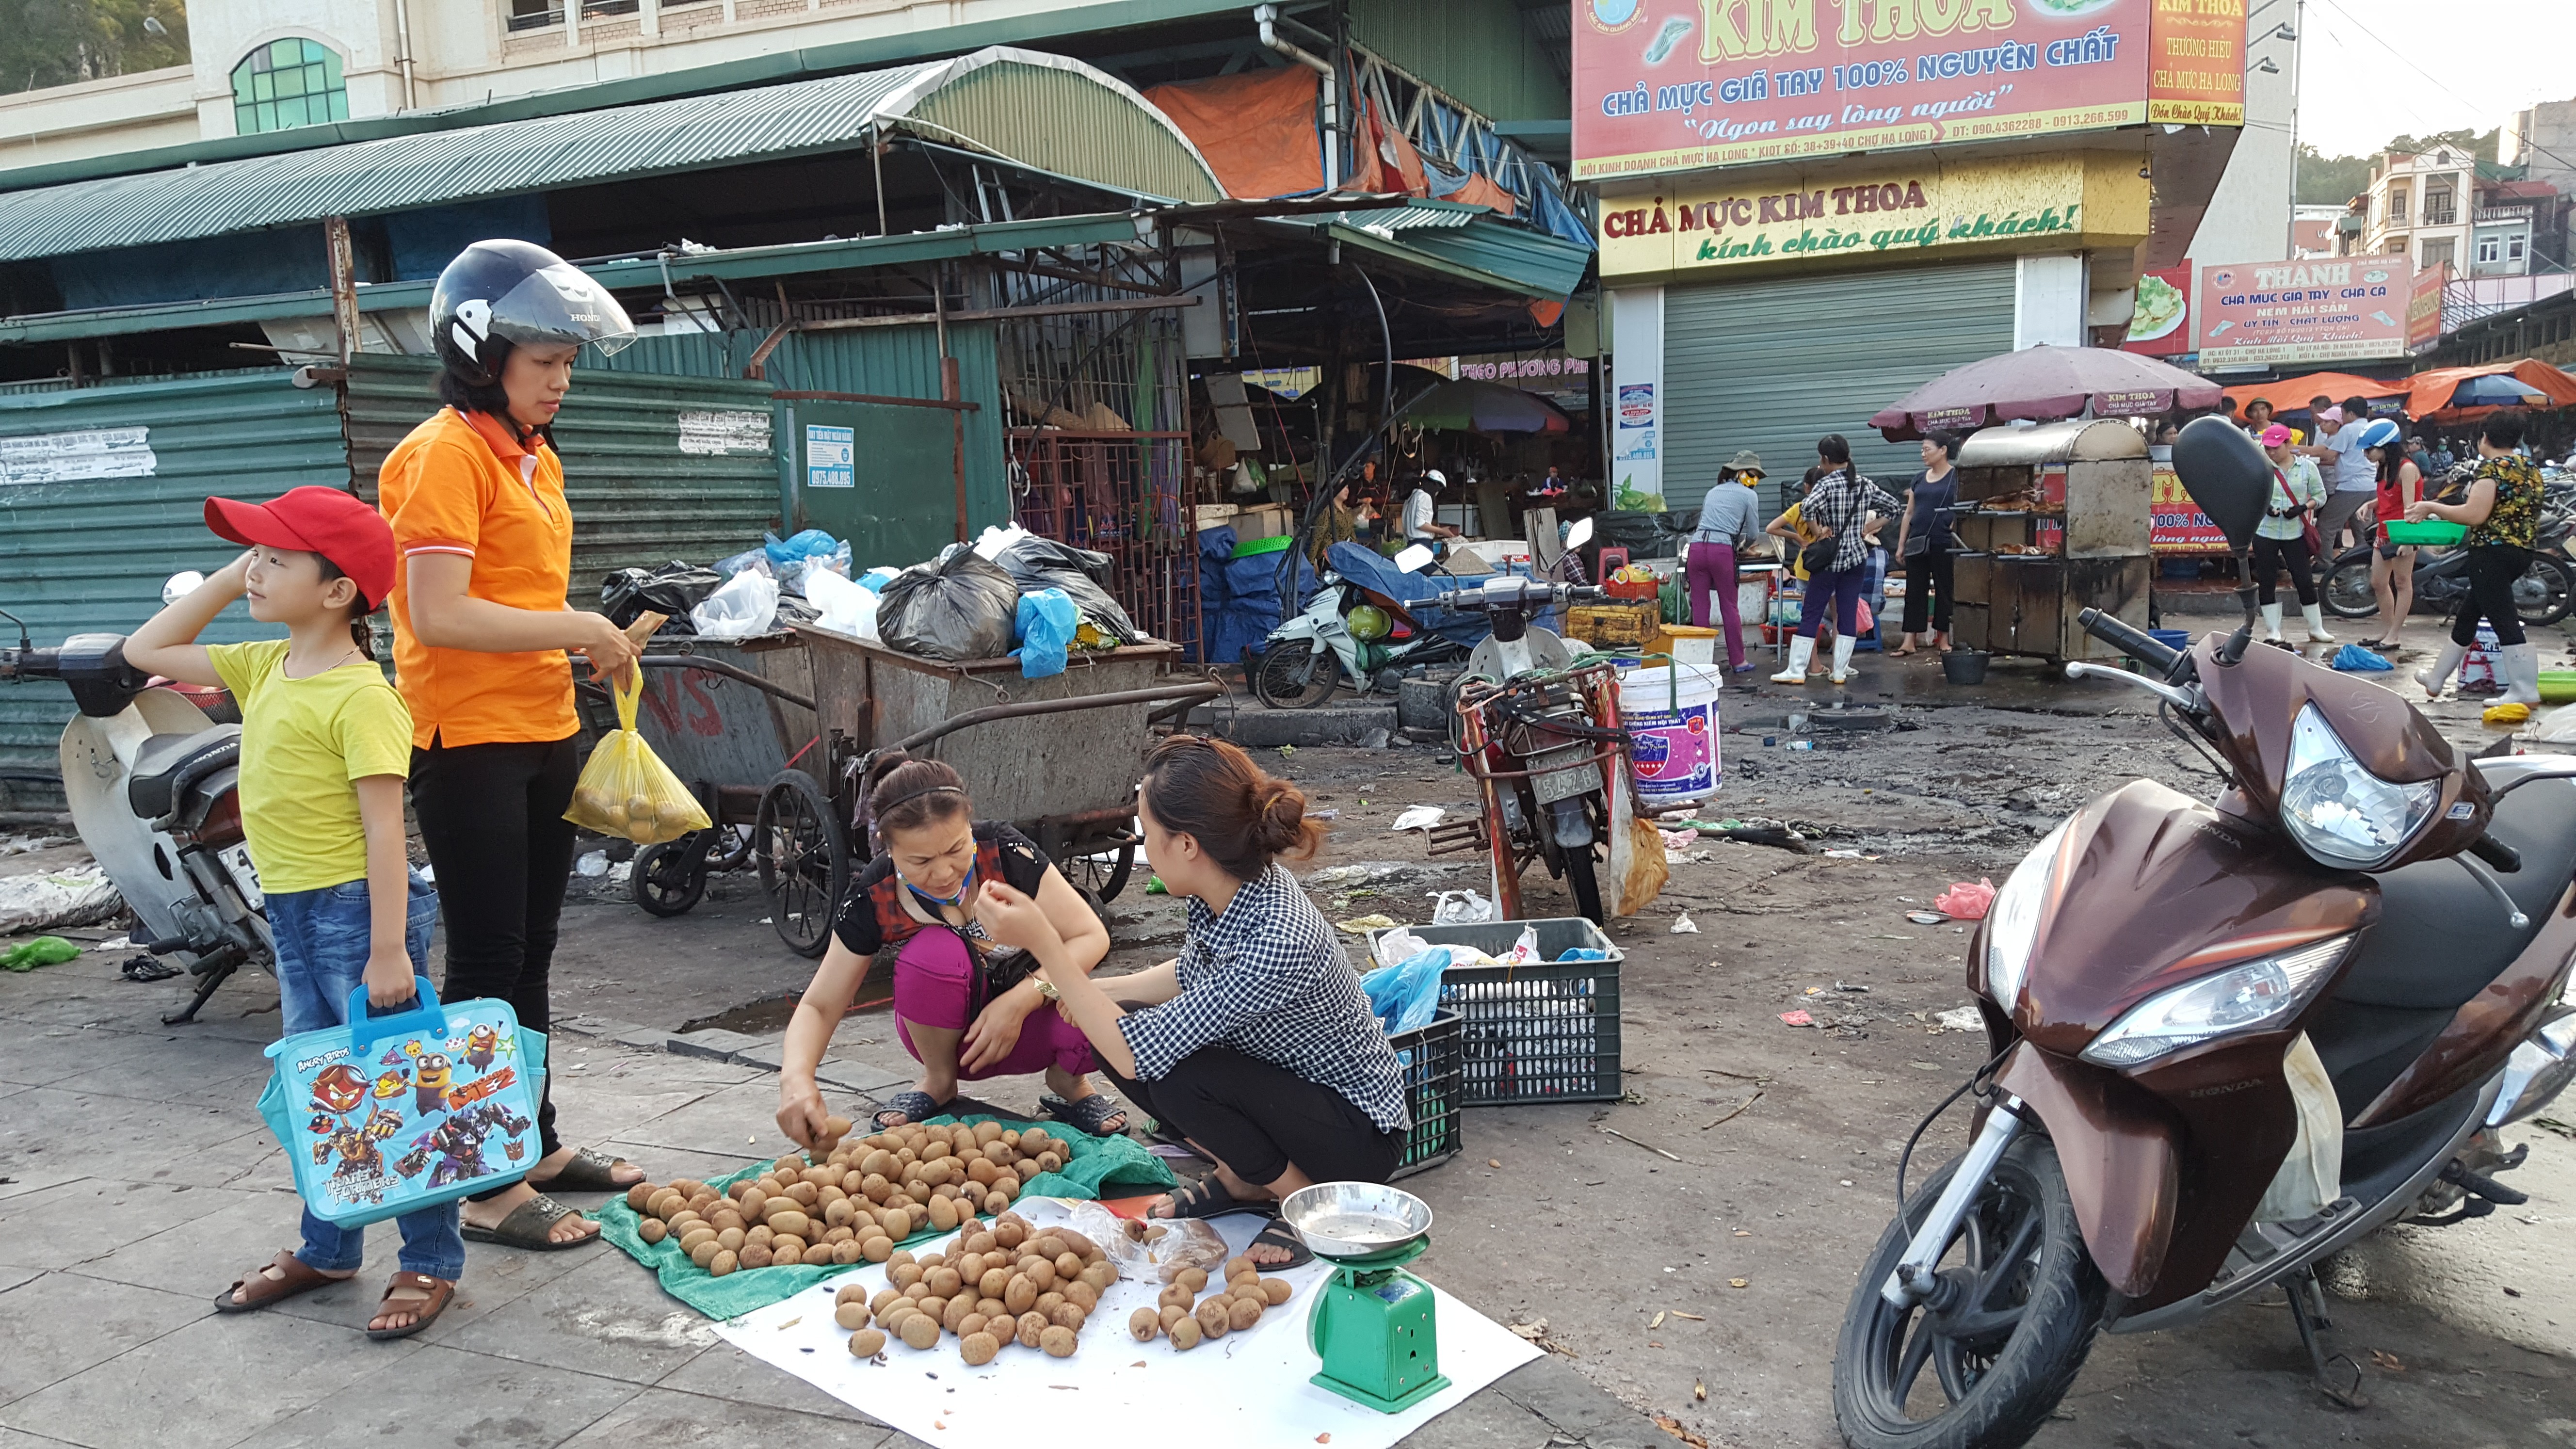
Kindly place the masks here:
[[(1306, 1183), (1383, 1183), (1414, 1122), (1360, 975), (1278, 864), (1321, 838), (1306, 797), (1234, 745), (1175, 735), (1146, 761), (1136, 820), (1154, 874), (1190, 900), (1180, 959), (1095, 982), (1005, 882), (984, 884), (979, 915), (994, 941), (1038, 959), (1118, 1091), (1216, 1163), (1151, 1212), (1275, 1214)], [(1262, 1266), (1311, 1258), (1283, 1222), (1249, 1253)]]

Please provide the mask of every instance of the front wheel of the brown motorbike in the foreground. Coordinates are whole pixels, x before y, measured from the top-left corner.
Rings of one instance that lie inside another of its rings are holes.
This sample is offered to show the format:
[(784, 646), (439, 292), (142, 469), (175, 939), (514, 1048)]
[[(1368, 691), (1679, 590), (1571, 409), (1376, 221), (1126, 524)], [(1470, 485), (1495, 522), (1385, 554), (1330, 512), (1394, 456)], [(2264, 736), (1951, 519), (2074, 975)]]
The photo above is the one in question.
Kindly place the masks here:
[[(1932, 1173), (1878, 1238), (1842, 1315), (1834, 1423), (1852, 1449), (2012, 1449), (2048, 1423), (2102, 1328), (2107, 1287), (2084, 1250), (2056, 1145), (2025, 1132), (1942, 1250), (1942, 1307), (1880, 1284), (1950, 1181)], [(1924, 1374), (1924, 1369), (1932, 1374)]]

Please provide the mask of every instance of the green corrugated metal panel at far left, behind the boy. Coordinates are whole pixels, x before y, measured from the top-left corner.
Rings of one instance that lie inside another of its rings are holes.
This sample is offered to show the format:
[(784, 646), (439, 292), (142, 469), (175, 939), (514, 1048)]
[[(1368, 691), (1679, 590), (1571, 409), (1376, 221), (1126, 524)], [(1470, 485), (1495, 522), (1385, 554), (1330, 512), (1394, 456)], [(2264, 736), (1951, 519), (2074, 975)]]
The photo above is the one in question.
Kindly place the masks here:
[[(26, 619), (39, 645), (129, 634), (160, 608), (165, 578), (211, 572), (240, 552), (206, 531), (209, 495), (268, 500), (348, 485), (332, 389), (291, 376), (265, 369), (0, 397), (0, 608)], [(234, 603), (206, 642), (258, 634), (273, 632)], [(62, 686), (0, 686), (0, 768), (54, 773), (70, 717)]]

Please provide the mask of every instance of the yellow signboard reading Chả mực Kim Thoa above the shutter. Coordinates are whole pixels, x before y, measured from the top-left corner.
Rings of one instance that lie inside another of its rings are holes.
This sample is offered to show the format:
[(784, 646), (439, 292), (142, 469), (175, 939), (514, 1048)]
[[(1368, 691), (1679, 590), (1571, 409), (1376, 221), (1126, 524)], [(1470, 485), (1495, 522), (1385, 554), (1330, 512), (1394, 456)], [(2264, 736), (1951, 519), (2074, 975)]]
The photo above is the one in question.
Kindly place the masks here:
[(1935, 248), (2133, 242), (2146, 237), (2146, 201), (2136, 157), (2107, 152), (1844, 162), (1754, 183), (1718, 173), (1669, 193), (1605, 196), (1602, 276), (1687, 276), (1819, 258), (1868, 266)]

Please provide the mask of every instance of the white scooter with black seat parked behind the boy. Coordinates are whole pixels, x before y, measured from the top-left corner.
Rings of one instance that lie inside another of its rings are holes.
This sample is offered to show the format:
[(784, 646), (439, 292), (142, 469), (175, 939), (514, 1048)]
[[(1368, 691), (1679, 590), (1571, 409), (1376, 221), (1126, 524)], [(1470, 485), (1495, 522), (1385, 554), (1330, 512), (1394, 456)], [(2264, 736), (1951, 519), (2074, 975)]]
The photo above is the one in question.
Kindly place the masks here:
[(137, 944), (185, 957), (198, 977), (188, 1006), (162, 1016), (178, 1026), (232, 972), (276, 972), (276, 949), (234, 792), (242, 727), (206, 719), (175, 688), (155, 688), (124, 650), (124, 634), (72, 634), (39, 650), (21, 624), (18, 647), (0, 647), (0, 681), (72, 686), (80, 714), (59, 745), (72, 828), (134, 910)]

